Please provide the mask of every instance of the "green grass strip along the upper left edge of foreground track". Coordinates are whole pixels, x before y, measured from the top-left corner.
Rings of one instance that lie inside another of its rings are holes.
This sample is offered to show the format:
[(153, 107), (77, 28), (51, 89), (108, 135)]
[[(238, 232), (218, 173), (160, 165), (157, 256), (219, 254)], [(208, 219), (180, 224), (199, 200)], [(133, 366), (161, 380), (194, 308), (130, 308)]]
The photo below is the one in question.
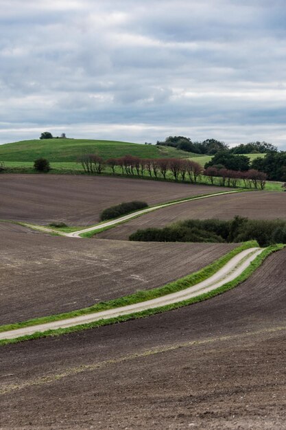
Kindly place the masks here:
[(47, 317), (38, 317), (34, 319), (29, 319), (28, 321), (22, 321), (19, 323), (0, 326), (0, 332), (16, 330), (17, 328), (36, 326), (38, 324), (45, 324), (51, 321), (60, 321), (62, 319), (78, 317), (80, 315), (87, 315), (89, 313), (100, 312), (102, 310), (119, 308), (121, 306), (127, 306), (129, 304), (146, 302), (146, 300), (156, 299), (157, 297), (162, 297), (163, 295), (167, 295), (170, 293), (176, 293), (176, 291), (184, 290), (185, 288), (189, 288), (189, 286), (193, 286), (195, 284), (198, 284), (199, 282), (206, 280), (214, 273), (216, 273), (219, 269), (221, 269), (233, 257), (237, 256), (238, 253), (244, 251), (245, 249), (253, 247), (259, 247), (258, 243), (255, 240), (244, 242), (242, 245), (237, 246), (235, 249), (226, 253), (226, 255), (222, 256), (215, 262), (208, 264), (208, 266), (204, 267), (203, 269), (195, 273), (191, 273), (190, 275), (184, 276), (184, 278), (180, 278), (179, 280), (176, 280), (174, 282), (170, 282), (169, 284), (166, 284), (164, 286), (152, 288), (146, 291), (138, 291), (131, 295), (126, 295), (117, 299), (109, 300), (108, 302), (100, 302), (98, 304), (94, 304), (93, 306), (89, 306), (88, 308), (71, 310), (71, 312), (67, 313), (49, 315)]

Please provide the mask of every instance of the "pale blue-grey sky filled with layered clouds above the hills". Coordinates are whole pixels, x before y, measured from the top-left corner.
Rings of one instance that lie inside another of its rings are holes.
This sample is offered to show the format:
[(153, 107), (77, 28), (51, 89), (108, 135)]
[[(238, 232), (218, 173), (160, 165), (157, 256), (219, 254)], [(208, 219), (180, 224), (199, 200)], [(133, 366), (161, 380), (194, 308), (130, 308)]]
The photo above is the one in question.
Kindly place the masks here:
[(0, 144), (169, 135), (286, 150), (285, 0), (0, 0)]

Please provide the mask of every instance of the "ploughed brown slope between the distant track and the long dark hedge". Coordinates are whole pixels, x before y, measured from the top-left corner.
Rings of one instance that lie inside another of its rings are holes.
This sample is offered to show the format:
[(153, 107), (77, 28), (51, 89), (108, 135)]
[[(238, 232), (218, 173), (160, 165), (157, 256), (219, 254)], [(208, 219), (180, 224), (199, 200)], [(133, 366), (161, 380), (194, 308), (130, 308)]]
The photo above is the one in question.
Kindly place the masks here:
[(235, 215), (254, 219), (286, 218), (286, 194), (274, 192), (242, 192), (208, 199), (190, 201), (139, 216), (128, 223), (103, 231), (96, 238), (128, 240), (138, 229), (164, 227), (188, 218), (219, 218), (228, 220)]

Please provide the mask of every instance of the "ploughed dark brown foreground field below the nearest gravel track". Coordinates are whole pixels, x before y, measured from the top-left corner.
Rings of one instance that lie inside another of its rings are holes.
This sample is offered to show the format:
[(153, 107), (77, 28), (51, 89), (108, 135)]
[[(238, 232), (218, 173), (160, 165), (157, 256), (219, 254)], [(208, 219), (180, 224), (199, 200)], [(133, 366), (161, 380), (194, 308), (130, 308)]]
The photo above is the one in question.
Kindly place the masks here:
[(286, 250), (206, 302), (1, 348), (1, 428), (285, 429), (285, 267)]

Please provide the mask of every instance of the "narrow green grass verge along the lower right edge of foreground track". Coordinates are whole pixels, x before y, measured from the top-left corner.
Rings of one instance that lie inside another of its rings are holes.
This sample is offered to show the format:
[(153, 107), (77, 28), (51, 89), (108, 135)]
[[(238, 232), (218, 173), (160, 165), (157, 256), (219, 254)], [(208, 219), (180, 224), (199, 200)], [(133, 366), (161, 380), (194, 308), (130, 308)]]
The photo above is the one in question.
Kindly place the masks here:
[(184, 300), (184, 301), (178, 302), (176, 304), (169, 304), (166, 306), (160, 306), (159, 308), (152, 308), (149, 310), (143, 310), (139, 313), (122, 315), (121, 317), (115, 317), (115, 318), (110, 318), (110, 319), (101, 319), (99, 321), (94, 321), (93, 323), (81, 324), (81, 325), (73, 326), (73, 327), (69, 327), (69, 328), (58, 328), (56, 330), (47, 330), (46, 332), (35, 332), (33, 335), (22, 336), (22, 337), (19, 337), (16, 339), (3, 339), (0, 341), (0, 346), (5, 346), (9, 343), (18, 343), (21, 341), (40, 339), (40, 338), (45, 338), (45, 337), (50, 337), (50, 336), (55, 337), (55, 336), (60, 336), (60, 335), (67, 335), (67, 334), (73, 333), (73, 332), (79, 332), (79, 331), (88, 330), (91, 328), (97, 328), (97, 327), (101, 327), (101, 326), (108, 326), (110, 324), (117, 324), (119, 322), (130, 321), (131, 319), (139, 319), (139, 318), (149, 317), (151, 315), (156, 315), (158, 313), (167, 312), (168, 310), (174, 310), (174, 309), (182, 308), (183, 306), (189, 306), (190, 304), (202, 302), (206, 299), (210, 299), (211, 297), (215, 297), (216, 295), (220, 295), (222, 293), (225, 293), (226, 291), (228, 291), (232, 288), (235, 288), (235, 286), (241, 284), (241, 282), (248, 279), (250, 277), (250, 275), (252, 275), (252, 273), (259, 266), (261, 266), (261, 264), (263, 263), (265, 258), (267, 258), (267, 256), (270, 256), (270, 254), (272, 254), (276, 251), (280, 251), (285, 246), (286, 245), (279, 244), (279, 245), (272, 245), (270, 247), (265, 248), (265, 250), (261, 254), (259, 254), (259, 256), (257, 256), (257, 258), (255, 258), (254, 261), (252, 261), (250, 263), (249, 267), (245, 271), (243, 271), (243, 273), (241, 273), (241, 275), (239, 275), (237, 278), (235, 278), (235, 280), (230, 281), (230, 282), (224, 284), (223, 286), (220, 286), (219, 288), (217, 288), (213, 291), (210, 291), (209, 293), (204, 293), (202, 295), (198, 295), (197, 297), (193, 297), (191, 299)]

